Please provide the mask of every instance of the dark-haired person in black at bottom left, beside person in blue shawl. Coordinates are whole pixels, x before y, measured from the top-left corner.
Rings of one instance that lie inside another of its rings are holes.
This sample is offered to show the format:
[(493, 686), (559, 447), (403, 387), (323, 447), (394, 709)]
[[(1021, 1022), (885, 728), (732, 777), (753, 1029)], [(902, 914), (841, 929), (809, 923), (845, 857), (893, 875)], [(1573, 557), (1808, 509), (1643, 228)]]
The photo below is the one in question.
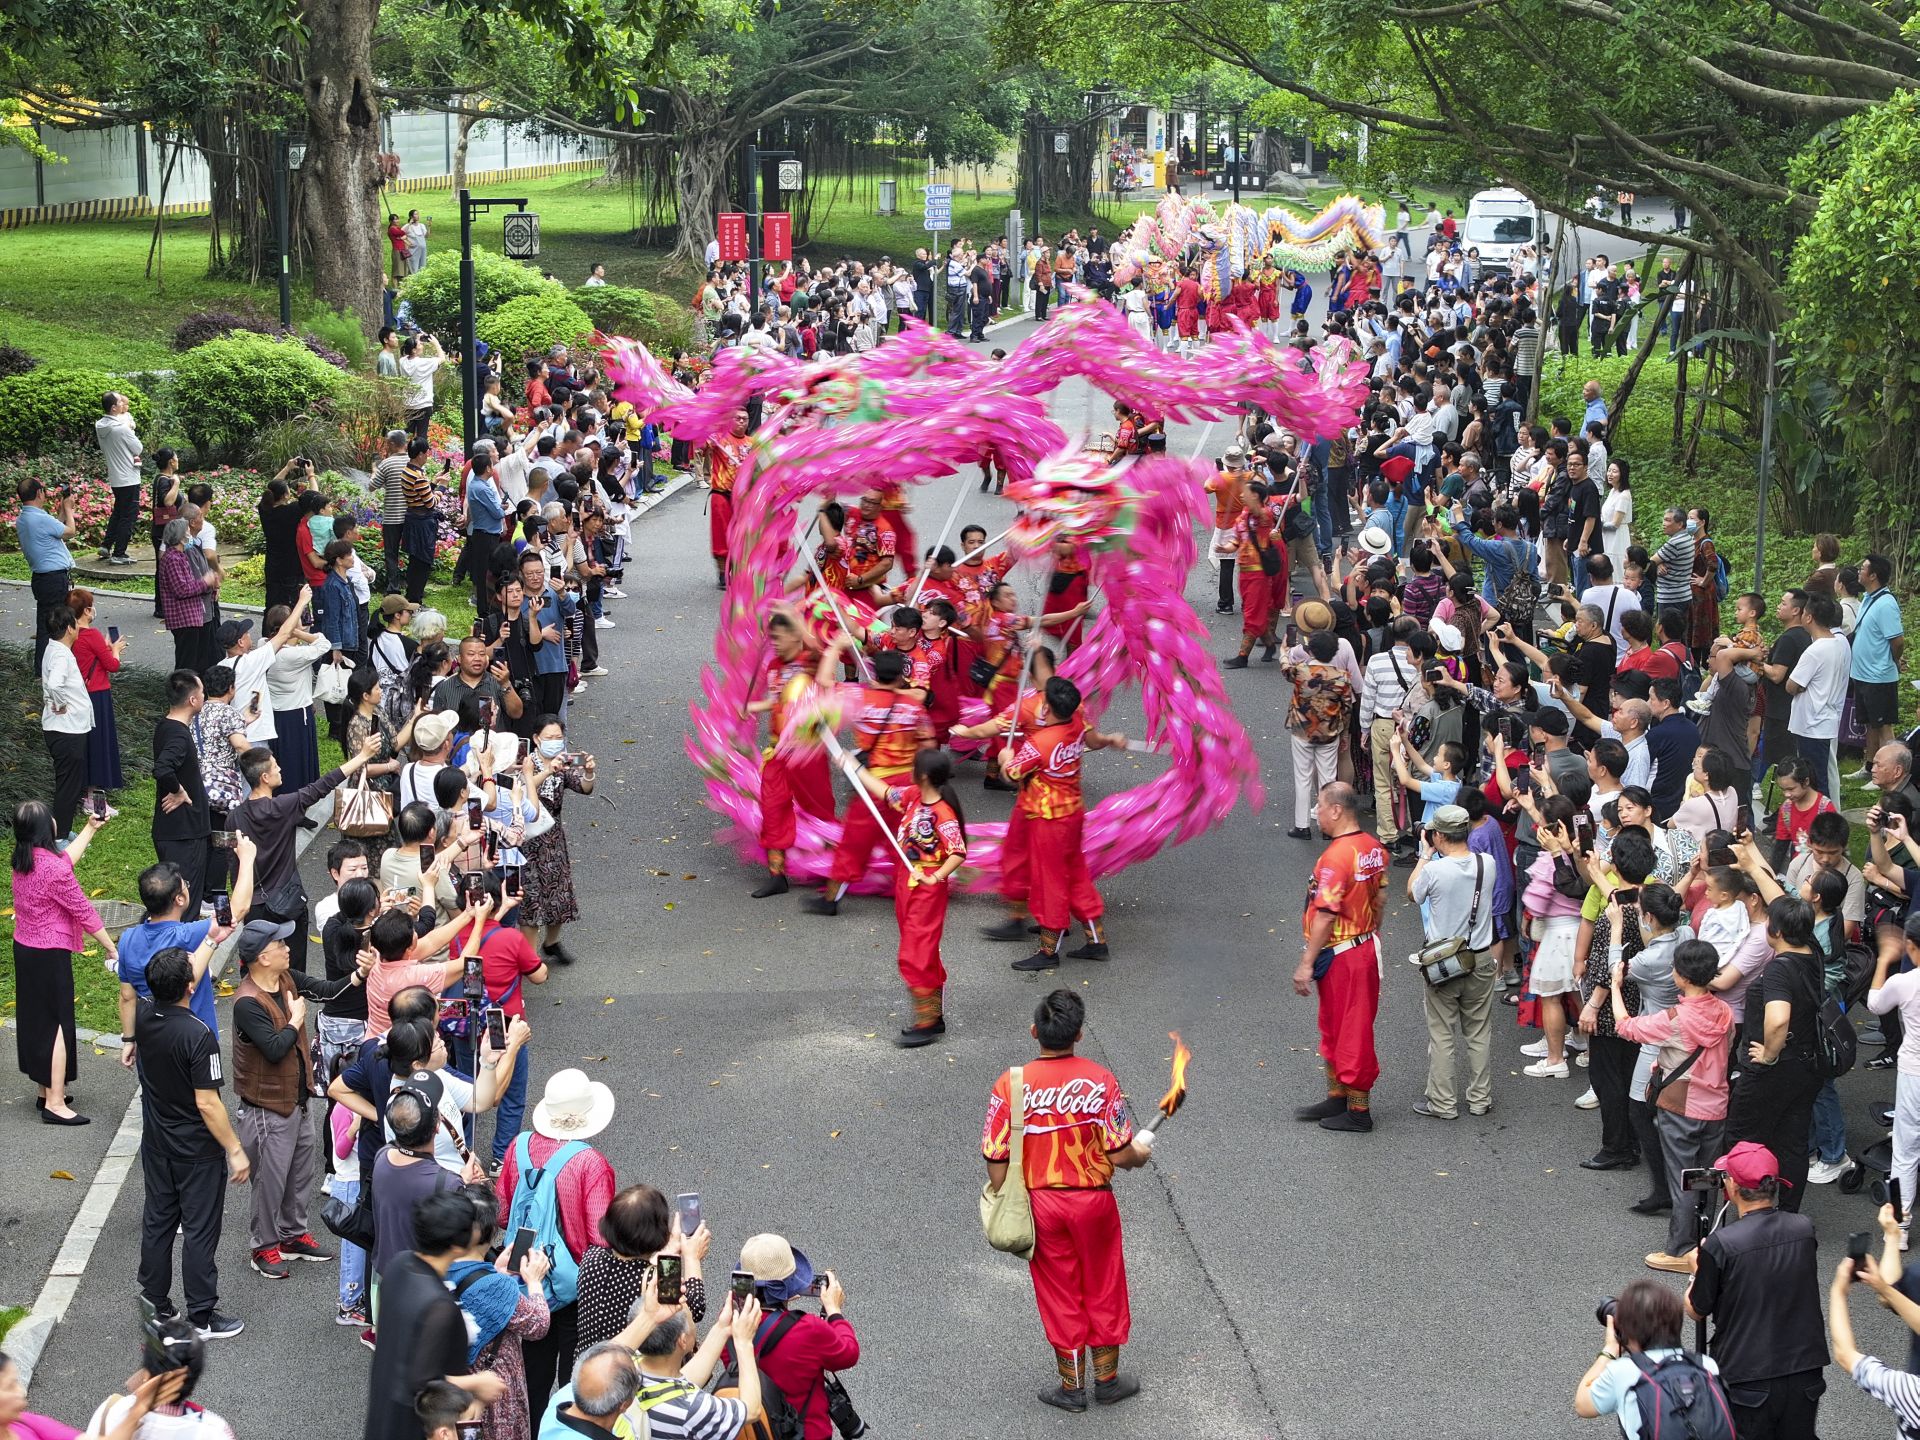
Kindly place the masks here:
[(413, 1250), (380, 1273), (380, 1344), (367, 1380), (365, 1440), (424, 1440), (413, 1402), (428, 1380), (447, 1380), (482, 1405), (507, 1394), (493, 1371), (467, 1363), (467, 1321), (447, 1288), (447, 1269), (492, 1229), (492, 1206), (468, 1190), (442, 1190), (413, 1208)]

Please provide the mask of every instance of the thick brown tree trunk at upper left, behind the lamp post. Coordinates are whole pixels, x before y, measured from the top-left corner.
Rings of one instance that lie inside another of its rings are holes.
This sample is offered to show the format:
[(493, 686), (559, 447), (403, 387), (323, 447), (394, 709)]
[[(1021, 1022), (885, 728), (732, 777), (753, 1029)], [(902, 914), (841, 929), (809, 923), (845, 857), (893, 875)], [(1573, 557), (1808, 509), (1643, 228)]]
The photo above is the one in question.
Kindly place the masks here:
[(346, 305), (371, 336), (382, 315), (380, 106), (372, 77), (378, 0), (307, 0), (307, 190), (313, 296)]

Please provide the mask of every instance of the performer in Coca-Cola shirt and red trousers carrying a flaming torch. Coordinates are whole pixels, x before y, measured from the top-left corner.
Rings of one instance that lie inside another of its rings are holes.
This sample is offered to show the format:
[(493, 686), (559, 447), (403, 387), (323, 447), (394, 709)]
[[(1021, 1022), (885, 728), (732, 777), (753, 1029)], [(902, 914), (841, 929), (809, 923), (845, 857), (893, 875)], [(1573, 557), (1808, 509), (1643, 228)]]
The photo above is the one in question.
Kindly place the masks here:
[[(1029, 1035), (1039, 1060), (995, 1081), (981, 1133), (987, 1183), (1000, 1188), (1012, 1158), (1014, 1077), (1021, 1083), (1021, 1177), (1033, 1202), (1033, 1298), (1054, 1348), (1060, 1382), (1041, 1390), (1056, 1409), (1087, 1409), (1092, 1398), (1114, 1405), (1140, 1392), (1119, 1373), (1119, 1348), (1133, 1331), (1127, 1304), (1127, 1254), (1114, 1202), (1114, 1171), (1139, 1169), (1154, 1154), (1152, 1131), (1137, 1135), (1114, 1071), (1073, 1054), (1087, 1004), (1073, 991), (1054, 991), (1033, 1012)], [(1092, 1363), (1081, 1352), (1092, 1350)]]

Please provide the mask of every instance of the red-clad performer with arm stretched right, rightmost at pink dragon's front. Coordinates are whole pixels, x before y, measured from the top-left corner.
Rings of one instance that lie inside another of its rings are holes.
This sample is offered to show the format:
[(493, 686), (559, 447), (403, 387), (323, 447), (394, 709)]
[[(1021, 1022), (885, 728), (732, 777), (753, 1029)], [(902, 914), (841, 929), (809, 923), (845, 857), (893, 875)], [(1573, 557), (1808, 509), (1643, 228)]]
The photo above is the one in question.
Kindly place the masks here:
[(1081, 712), (1079, 687), (1062, 676), (1046, 682), (1046, 712), (1039, 730), (1010, 735), (1000, 751), (1000, 774), (1025, 778), (1016, 806), (1027, 816), (1027, 904), (1041, 925), (1041, 948), (1014, 970), (1052, 970), (1060, 964), (1060, 939), (1079, 920), (1087, 943), (1069, 960), (1106, 960), (1100, 916), (1106, 902), (1087, 874), (1081, 831), (1087, 801), (1081, 795), (1081, 755), (1089, 749), (1125, 749), (1121, 733), (1094, 730)]

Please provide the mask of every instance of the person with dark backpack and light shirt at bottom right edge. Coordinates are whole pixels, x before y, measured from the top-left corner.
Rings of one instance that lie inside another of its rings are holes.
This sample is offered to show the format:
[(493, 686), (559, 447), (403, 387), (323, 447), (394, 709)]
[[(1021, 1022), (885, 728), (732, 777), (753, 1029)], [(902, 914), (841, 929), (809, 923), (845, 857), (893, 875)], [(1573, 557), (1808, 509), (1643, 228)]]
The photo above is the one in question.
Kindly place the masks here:
[(1607, 1342), (1574, 1386), (1574, 1415), (1588, 1421), (1613, 1415), (1626, 1440), (1667, 1434), (1665, 1423), (1672, 1419), (1693, 1440), (1734, 1440), (1726, 1392), (1715, 1379), (1720, 1367), (1680, 1344), (1686, 1327), (1680, 1296), (1655, 1281), (1634, 1281), (1619, 1300), (1599, 1304), (1597, 1319), (1607, 1327)]

